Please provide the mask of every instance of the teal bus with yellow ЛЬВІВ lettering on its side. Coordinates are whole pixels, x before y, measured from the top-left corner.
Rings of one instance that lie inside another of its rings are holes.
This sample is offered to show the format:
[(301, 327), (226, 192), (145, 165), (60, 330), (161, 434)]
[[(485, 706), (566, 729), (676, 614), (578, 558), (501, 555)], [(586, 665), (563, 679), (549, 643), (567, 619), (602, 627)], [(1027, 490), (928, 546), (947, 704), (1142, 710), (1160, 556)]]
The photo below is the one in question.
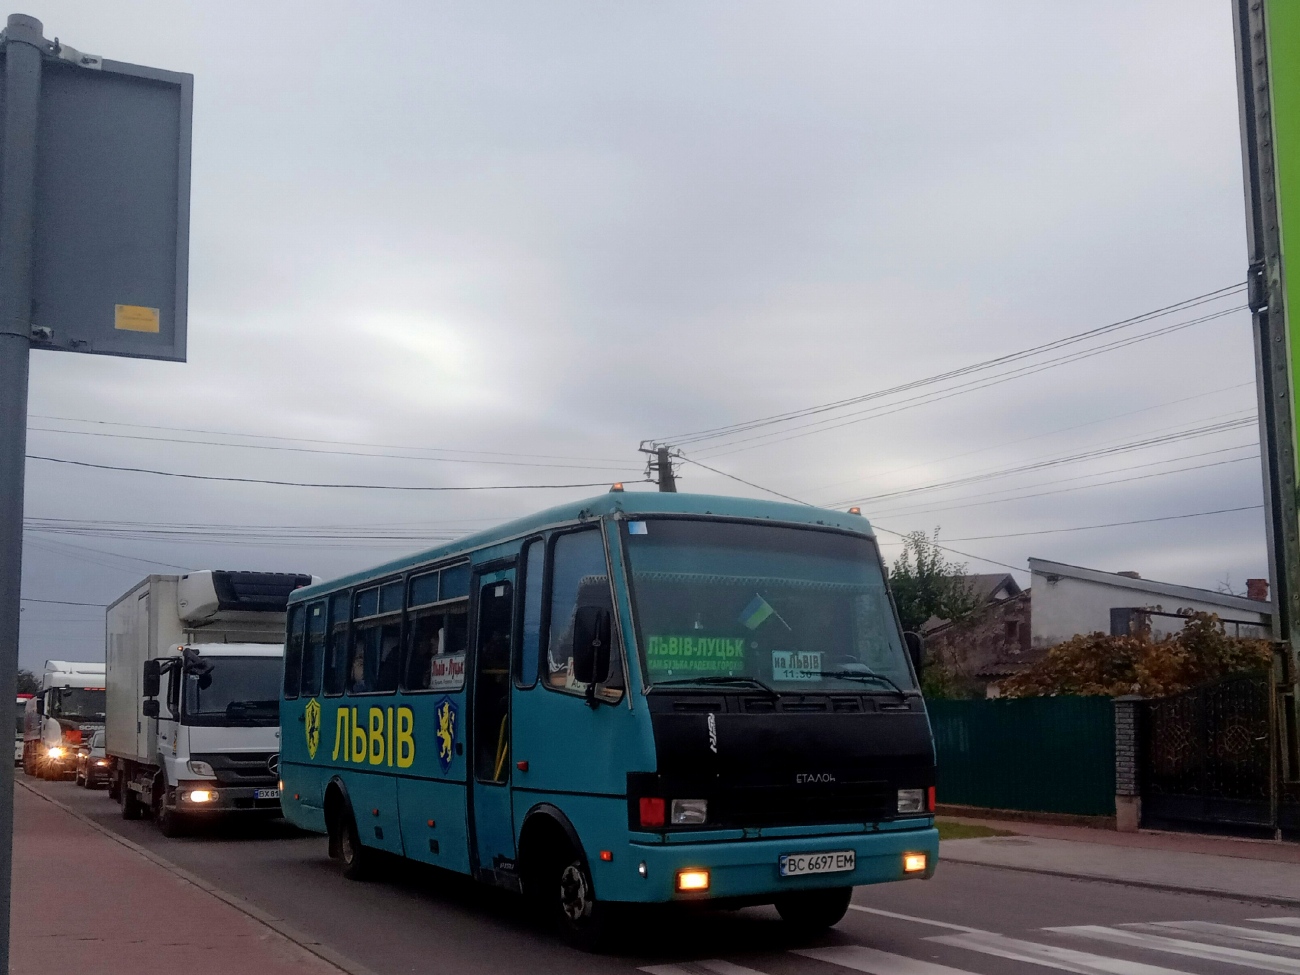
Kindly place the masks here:
[(920, 641), (855, 510), (616, 485), (299, 589), (286, 633), (283, 812), (350, 878), (436, 864), (590, 944), (933, 874)]

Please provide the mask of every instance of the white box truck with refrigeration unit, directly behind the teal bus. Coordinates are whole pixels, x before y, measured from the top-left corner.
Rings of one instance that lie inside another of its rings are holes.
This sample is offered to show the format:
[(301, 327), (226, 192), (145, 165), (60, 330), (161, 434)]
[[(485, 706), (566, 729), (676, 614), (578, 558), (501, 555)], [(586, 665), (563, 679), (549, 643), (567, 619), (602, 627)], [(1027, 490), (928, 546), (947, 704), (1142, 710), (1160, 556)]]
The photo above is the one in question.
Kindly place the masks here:
[(109, 794), (174, 836), (217, 814), (280, 815), (285, 606), (312, 576), (150, 576), (108, 607)]

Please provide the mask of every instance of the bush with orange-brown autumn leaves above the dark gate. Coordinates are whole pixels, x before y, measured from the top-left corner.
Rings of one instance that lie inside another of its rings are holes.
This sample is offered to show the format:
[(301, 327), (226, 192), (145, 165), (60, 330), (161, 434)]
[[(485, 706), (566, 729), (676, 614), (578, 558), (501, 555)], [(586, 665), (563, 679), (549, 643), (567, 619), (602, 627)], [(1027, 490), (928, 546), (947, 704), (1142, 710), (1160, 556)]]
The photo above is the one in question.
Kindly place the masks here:
[(1006, 697), (1054, 694), (1178, 694), (1230, 673), (1268, 670), (1273, 646), (1266, 640), (1230, 637), (1218, 616), (1183, 610), (1178, 633), (1152, 640), (1145, 633), (1088, 633), (1048, 650), (1028, 670), (1002, 681)]

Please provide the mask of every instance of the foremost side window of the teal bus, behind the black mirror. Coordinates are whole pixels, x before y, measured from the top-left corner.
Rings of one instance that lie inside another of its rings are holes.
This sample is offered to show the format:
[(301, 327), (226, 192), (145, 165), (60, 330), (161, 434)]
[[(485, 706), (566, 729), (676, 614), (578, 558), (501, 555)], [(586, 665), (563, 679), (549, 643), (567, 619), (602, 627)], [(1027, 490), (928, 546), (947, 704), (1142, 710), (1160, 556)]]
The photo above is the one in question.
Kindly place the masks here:
[[(555, 690), (582, 694), (586, 685), (573, 680), (573, 619), (578, 607), (598, 607), (614, 612), (610, 598), (610, 575), (604, 564), (604, 541), (601, 530), (584, 529), (555, 538), (551, 549), (550, 632), (546, 640), (546, 685)], [(610, 649), (610, 671), (606, 686), (623, 685), (621, 649)]]

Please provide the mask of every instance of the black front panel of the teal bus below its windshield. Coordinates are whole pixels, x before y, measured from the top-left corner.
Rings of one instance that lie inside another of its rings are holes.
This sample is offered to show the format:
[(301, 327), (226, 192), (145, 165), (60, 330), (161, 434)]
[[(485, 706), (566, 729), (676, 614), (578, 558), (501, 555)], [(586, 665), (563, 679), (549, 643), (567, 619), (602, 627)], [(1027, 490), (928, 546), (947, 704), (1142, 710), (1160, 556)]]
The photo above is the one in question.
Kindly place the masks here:
[(655, 692), (647, 699), (659, 768), (628, 776), (633, 829), (642, 796), (708, 800), (708, 822), (684, 828), (725, 829), (896, 819), (898, 789), (935, 784), (918, 697)]

